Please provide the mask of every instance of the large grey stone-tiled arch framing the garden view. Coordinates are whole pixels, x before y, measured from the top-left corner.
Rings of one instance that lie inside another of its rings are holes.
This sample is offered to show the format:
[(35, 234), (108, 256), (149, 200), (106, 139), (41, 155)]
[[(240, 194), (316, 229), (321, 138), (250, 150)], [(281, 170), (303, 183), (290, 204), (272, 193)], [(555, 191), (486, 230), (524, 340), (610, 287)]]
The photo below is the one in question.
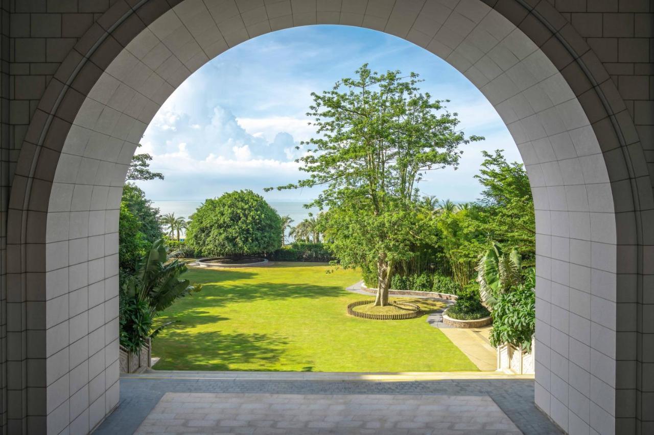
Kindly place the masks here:
[(88, 432), (118, 403), (118, 206), (159, 106), (224, 50), (311, 24), (407, 39), (486, 95), (534, 193), (536, 404), (570, 433), (636, 430), (650, 174), (613, 82), (547, 1), (120, 0), (61, 64), (20, 151), (7, 242), (10, 432)]

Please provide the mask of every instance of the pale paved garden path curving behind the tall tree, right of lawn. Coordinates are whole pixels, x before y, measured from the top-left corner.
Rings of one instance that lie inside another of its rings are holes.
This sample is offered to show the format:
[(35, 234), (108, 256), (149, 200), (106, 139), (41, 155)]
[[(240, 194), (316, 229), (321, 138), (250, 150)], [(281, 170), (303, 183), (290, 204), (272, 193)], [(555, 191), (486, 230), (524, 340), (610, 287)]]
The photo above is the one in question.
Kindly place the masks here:
[[(360, 295), (372, 296), (371, 293), (361, 289), (362, 282), (355, 283), (347, 287), (347, 291), (358, 293)], [(466, 354), (466, 357), (472, 361), (479, 370), (492, 371), (497, 368), (497, 353), (494, 347), (490, 346), (489, 333), (492, 327), (460, 329), (453, 328), (443, 323), (443, 311), (454, 304), (451, 300), (438, 299), (428, 296), (416, 295), (392, 295), (394, 298), (417, 298), (426, 300), (438, 300), (445, 304), (442, 310), (434, 311), (427, 315), (427, 323), (434, 328), (438, 328), (455, 344), (456, 347)]]

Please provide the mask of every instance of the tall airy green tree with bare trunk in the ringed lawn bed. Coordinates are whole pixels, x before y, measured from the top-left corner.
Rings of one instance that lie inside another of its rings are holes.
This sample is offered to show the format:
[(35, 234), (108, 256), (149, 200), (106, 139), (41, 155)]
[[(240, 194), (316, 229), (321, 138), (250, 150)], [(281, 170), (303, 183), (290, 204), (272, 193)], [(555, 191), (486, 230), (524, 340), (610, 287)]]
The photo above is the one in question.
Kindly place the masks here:
[(328, 208), (322, 223), (345, 267), (377, 271), (375, 305), (388, 304), (394, 265), (413, 255), (421, 231), (417, 184), (428, 170), (456, 166), (458, 147), (469, 140), (457, 130), (456, 114), (418, 88), (411, 72), (379, 74), (363, 65), (330, 91), (312, 93), (317, 137), (301, 170), (309, 177), (278, 187), (323, 186), (308, 204)]

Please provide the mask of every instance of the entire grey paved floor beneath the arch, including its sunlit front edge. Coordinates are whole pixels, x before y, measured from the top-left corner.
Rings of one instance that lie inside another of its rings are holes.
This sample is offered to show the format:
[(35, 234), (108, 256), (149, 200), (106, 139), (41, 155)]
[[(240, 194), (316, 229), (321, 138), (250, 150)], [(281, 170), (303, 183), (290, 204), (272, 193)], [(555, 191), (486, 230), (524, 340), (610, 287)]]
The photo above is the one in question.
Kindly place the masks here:
[(150, 371), (120, 379), (114, 434), (560, 434), (529, 376)]

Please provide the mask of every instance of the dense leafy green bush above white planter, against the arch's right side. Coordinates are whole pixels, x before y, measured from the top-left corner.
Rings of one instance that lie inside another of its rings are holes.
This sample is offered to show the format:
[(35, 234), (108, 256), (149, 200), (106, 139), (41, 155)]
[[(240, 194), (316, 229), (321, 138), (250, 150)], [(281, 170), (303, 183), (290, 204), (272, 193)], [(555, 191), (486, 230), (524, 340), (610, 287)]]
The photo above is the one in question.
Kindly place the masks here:
[(534, 268), (530, 268), (523, 283), (499, 295), (492, 309), (490, 343), (493, 346), (510, 343), (531, 351), (532, 336), (536, 330), (535, 287)]

